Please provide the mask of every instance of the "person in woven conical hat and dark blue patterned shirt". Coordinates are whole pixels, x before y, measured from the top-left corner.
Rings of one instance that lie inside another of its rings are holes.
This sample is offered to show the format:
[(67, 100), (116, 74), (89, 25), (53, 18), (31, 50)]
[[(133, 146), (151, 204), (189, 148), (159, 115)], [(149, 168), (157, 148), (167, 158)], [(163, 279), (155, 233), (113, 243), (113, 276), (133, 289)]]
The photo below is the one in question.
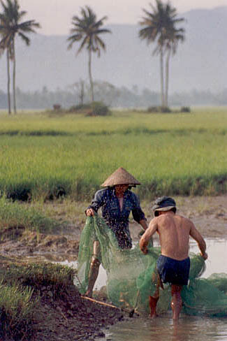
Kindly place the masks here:
[[(129, 231), (129, 215), (133, 214), (133, 219), (142, 226), (144, 230), (147, 228), (147, 221), (144, 212), (140, 208), (140, 201), (131, 187), (140, 184), (127, 170), (120, 167), (115, 170), (101, 184), (104, 189), (96, 192), (91, 205), (85, 211), (87, 216), (94, 216), (98, 209), (101, 208), (103, 219), (106, 224), (115, 233), (119, 247), (122, 249), (131, 249), (132, 240)], [(98, 268), (100, 266), (99, 259), (100, 245), (98, 240), (94, 241), (93, 256), (89, 271), (89, 284), (87, 296), (92, 296), (92, 291), (96, 278), (98, 277)]]

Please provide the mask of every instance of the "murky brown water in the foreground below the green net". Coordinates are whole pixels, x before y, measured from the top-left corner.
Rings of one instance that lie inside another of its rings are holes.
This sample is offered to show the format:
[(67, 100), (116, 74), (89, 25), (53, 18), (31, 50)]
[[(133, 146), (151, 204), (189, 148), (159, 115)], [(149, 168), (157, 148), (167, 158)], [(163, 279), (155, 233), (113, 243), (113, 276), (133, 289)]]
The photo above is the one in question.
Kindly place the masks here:
[(226, 319), (190, 317), (182, 314), (178, 323), (171, 313), (157, 319), (133, 318), (111, 326), (98, 341), (214, 341), (227, 340)]

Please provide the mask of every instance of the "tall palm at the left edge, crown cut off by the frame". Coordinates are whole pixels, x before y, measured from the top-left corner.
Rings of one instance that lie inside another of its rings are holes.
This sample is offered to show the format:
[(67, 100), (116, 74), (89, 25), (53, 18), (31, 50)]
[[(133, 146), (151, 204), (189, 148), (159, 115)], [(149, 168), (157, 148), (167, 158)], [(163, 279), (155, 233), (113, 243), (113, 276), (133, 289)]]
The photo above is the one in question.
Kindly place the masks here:
[[(16, 95), (15, 95), (15, 77), (16, 77), (16, 55), (15, 55), (15, 37), (19, 36), (26, 45), (30, 45), (30, 39), (27, 34), (36, 33), (34, 28), (40, 27), (40, 24), (35, 20), (28, 20), (22, 22), (24, 15), (27, 14), (25, 10), (20, 11), (20, 5), (17, 0), (3, 0), (0, 1), (3, 8), (3, 13), (0, 13), (0, 48), (7, 50), (8, 73), (9, 73), (9, 59), (13, 60), (13, 104), (14, 113), (17, 113)], [(9, 75), (8, 75), (9, 77)], [(8, 83), (9, 83), (8, 78)], [(9, 86), (9, 85), (8, 85)]]

